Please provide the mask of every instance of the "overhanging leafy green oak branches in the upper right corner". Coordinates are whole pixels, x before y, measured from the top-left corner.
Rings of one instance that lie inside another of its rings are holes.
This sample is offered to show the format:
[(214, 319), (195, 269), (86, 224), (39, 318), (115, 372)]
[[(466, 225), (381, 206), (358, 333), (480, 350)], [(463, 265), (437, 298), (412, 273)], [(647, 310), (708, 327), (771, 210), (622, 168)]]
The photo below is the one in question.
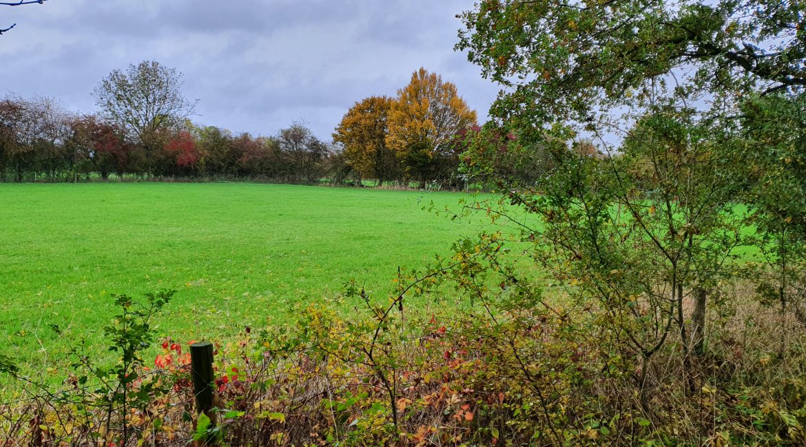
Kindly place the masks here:
[(767, 0), (485, 0), (460, 15), (456, 47), (505, 86), (492, 115), (524, 126), (591, 126), (663, 96), (730, 115), (748, 92), (803, 90), (804, 10)]

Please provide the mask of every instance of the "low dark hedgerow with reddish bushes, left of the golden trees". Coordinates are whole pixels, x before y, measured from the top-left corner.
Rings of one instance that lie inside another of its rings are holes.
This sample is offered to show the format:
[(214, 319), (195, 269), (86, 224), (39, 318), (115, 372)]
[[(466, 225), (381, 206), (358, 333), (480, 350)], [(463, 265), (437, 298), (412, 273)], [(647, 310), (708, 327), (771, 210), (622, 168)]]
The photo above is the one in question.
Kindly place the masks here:
[(56, 100), (6, 96), (0, 100), (0, 180), (256, 178), (318, 182), (335, 154), (310, 129), (294, 123), (271, 137), (233, 135), (185, 121), (158, 138), (133, 140), (122, 124), (98, 115), (77, 116)]

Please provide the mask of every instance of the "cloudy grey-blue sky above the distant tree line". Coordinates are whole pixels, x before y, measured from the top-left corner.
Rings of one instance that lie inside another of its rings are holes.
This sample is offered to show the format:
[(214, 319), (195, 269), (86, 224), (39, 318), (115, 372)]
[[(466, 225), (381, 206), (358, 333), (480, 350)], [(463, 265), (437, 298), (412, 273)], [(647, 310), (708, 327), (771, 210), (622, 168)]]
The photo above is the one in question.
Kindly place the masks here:
[(184, 74), (193, 121), (271, 135), (303, 121), (326, 141), (347, 109), (395, 96), (425, 67), (485, 121), (498, 87), (454, 51), (472, 0), (47, 0), (0, 6), (0, 96), (93, 113), (98, 82), (156, 60)]

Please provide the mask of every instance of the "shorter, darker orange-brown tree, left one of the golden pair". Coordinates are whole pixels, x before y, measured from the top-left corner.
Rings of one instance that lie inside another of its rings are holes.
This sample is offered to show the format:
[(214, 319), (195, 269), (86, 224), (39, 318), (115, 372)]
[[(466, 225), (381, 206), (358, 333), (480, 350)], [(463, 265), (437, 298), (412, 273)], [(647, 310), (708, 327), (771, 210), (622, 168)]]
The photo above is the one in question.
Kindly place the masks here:
[(370, 96), (353, 105), (333, 133), (333, 141), (344, 147), (347, 164), (361, 177), (376, 178), (378, 186), (397, 179), (400, 162), (386, 146), (388, 113), (393, 104), (388, 96)]

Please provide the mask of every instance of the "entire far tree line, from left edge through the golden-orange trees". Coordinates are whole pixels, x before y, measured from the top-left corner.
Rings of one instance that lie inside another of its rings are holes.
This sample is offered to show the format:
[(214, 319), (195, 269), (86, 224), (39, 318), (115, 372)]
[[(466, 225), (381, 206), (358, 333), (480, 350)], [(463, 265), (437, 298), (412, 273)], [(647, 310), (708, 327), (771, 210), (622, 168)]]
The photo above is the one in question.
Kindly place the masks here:
[(461, 186), (459, 154), (476, 113), (441, 76), (421, 68), (397, 98), (372, 96), (344, 116), (333, 141), (301, 122), (270, 136), (191, 121), (181, 73), (145, 61), (94, 91), (98, 113), (52, 98), (0, 100), (0, 181), (230, 178)]

